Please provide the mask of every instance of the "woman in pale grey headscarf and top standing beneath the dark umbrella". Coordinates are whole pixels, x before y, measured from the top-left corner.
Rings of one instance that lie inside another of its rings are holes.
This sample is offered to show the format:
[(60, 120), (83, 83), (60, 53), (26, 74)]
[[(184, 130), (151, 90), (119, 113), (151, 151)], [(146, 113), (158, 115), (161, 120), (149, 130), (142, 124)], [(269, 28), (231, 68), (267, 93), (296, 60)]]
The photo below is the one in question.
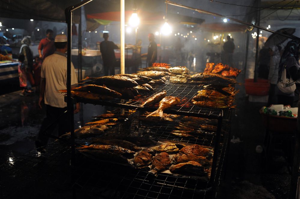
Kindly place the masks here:
[[(280, 47), (281, 48), (281, 47)], [(280, 50), (276, 45), (269, 48), (270, 64), (268, 80), (270, 82), (268, 106), (271, 104), (277, 104), (276, 86), (278, 80), (278, 66), (280, 62)]]

